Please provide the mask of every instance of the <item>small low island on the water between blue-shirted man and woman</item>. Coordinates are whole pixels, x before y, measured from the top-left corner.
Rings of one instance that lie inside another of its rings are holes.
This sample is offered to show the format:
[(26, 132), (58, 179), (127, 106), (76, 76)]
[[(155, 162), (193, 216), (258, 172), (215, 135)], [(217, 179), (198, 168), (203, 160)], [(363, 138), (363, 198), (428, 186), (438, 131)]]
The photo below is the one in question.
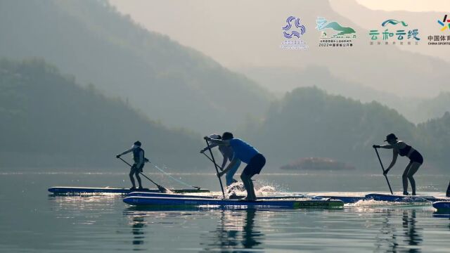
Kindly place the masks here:
[(353, 166), (323, 157), (303, 157), (290, 164), (283, 165), (281, 169), (301, 171), (335, 171), (353, 170)]

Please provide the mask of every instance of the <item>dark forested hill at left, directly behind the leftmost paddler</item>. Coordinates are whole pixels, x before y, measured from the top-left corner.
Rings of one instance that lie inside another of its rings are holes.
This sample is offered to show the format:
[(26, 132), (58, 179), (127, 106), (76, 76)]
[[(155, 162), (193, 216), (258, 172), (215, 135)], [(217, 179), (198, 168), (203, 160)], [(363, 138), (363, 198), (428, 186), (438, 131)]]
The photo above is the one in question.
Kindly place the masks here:
[(115, 155), (136, 140), (174, 169), (209, 165), (201, 136), (152, 122), (41, 60), (0, 60), (0, 119), (0, 167), (123, 167)]

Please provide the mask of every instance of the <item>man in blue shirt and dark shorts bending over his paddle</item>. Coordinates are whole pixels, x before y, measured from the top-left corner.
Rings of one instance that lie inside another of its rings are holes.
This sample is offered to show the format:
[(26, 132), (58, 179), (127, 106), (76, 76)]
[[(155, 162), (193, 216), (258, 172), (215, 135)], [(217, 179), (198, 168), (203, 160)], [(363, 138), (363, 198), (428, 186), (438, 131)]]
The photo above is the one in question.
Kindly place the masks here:
[(245, 198), (245, 200), (256, 200), (252, 176), (255, 176), (255, 174), (259, 174), (259, 172), (261, 172), (262, 167), (264, 167), (264, 165), (266, 164), (266, 158), (250, 144), (246, 143), (243, 140), (240, 140), (239, 138), (234, 138), (233, 134), (231, 134), (230, 132), (225, 132), (221, 137), (222, 139), (219, 140), (205, 136), (205, 140), (216, 143), (218, 145), (231, 146), (234, 151), (233, 160), (231, 160), (228, 167), (226, 167), (226, 169), (224, 169), (223, 171), (220, 171), (217, 176), (223, 176), (224, 174), (226, 174), (226, 172), (234, 167), (235, 163), (238, 162), (238, 160), (245, 162), (247, 166), (243, 170), (242, 174), (240, 174), (240, 179), (242, 179), (245, 190), (247, 190), (247, 197)]

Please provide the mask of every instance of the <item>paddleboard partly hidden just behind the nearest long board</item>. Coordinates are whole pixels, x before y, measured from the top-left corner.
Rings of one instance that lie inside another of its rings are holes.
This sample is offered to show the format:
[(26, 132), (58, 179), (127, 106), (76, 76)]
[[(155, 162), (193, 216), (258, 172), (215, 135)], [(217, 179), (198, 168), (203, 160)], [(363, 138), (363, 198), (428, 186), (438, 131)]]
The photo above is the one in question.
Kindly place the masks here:
[[(217, 196), (202, 196), (202, 195), (185, 195), (185, 194), (170, 194), (170, 193), (148, 193), (148, 192), (133, 192), (127, 194), (128, 197), (181, 197), (181, 198), (191, 198), (191, 197), (197, 197), (197, 198), (206, 198), (206, 199), (217, 199)], [(240, 200), (244, 198), (244, 195), (235, 195), (230, 197), (232, 200)], [(258, 200), (283, 200), (283, 199), (297, 199), (297, 198), (305, 198), (309, 197), (309, 195), (274, 195), (274, 196), (258, 196)], [(321, 197), (323, 198), (323, 197)]]

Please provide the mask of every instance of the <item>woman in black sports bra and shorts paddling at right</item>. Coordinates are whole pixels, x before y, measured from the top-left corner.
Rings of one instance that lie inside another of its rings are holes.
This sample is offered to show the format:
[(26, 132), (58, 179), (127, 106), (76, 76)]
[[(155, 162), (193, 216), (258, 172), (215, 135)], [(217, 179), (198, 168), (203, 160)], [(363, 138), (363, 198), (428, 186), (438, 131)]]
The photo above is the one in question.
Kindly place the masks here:
[(394, 167), (395, 162), (397, 162), (398, 155), (400, 156), (406, 156), (409, 158), (409, 164), (406, 166), (405, 171), (403, 172), (403, 175), (401, 176), (401, 179), (403, 180), (403, 194), (408, 195), (408, 179), (411, 183), (411, 188), (413, 189), (413, 195), (416, 195), (416, 181), (413, 178), (413, 175), (418, 171), (420, 165), (423, 164), (423, 157), (420, 155), (420, 153), (412, 148), (410, 145), (404, 143), (403, 141), (397, 141), (397, 136), (395, 134), (388, 134), (386, 136), (387, 143), (389, 145), (373, 145), (373, 148), (386, 148), (386, 149), (392, 149), (393, 157), (392, 162), (385, 170), (385, 174), (387, 174), (388, 171), (392, 167)]

